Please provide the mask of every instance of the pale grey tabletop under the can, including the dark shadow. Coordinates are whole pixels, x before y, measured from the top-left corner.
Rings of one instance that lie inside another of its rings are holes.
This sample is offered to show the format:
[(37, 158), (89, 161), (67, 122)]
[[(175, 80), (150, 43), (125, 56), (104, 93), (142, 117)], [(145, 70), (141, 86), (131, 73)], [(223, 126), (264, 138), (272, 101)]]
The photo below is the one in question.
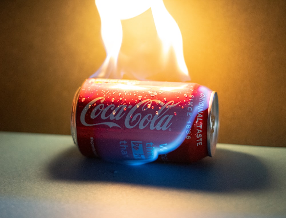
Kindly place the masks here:
[(0, 217), (286, 217), (286, 148), (126, 166), (85, 158), (71, 136), (0, 132)]

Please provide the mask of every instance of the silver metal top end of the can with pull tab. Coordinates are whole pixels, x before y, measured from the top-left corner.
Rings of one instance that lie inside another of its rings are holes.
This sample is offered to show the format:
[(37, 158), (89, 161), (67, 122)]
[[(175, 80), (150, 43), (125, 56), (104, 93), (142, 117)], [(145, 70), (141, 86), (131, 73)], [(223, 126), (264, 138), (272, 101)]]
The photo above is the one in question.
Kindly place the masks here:
[(208, 156), (213, 157), (217, 147), (217, 136), (219, 132), (219, 99), (217, 92), (210, 95), (208, 105), (208, 126), (207, 126), (207, 146)]

